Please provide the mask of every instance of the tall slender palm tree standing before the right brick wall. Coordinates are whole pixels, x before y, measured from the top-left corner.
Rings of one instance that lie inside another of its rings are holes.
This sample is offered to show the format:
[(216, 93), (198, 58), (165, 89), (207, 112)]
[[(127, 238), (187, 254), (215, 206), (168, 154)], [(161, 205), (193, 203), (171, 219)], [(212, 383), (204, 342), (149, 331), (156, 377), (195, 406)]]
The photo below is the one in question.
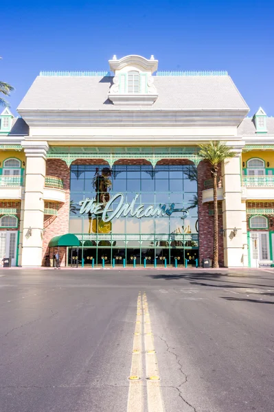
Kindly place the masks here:
[(207, 160), (212, 166), (212, 179), (213, 179), (213, 203), (214, 203), (214, 230), (213, 230), (213, 264), (212, 267), (218, 268), (218, 202), (217, 202), (217, 173), (218, 165), (228, 159), (229, 157), (236, 156), (236, 153), (232, 151), (233, 148), (227, 146), (221, 141), (211, 141), (209, 144), (201, 144), (199, 157)]

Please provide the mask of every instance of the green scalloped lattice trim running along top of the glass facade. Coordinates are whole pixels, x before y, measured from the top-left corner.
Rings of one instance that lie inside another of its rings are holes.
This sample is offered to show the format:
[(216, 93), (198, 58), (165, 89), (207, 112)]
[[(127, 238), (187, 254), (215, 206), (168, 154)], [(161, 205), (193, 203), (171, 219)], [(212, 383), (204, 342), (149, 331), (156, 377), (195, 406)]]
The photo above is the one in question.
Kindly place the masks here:
[(47, 152), (47, 159), (62, 159), (68, 166), (77, 159), (103, 159), (113, 166), (120, 159), (145, 159), (153, 167), (162, 159), (189, 159), (195, 165), (201, 161), (197, 147), (130, 147), (130, 148), (92, 148), (92, 147), (51, 147)]

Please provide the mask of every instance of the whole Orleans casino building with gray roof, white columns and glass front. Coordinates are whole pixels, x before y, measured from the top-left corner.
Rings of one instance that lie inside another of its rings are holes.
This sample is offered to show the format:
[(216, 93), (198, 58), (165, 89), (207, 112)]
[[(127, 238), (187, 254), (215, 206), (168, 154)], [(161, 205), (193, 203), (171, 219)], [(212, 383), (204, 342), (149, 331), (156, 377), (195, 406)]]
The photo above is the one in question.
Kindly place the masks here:
[(210, 167), (220, 165), (220, 266), (273, 263), (274, 118), (225, 71), (158, 71), (125, 56), (110, 71), (41, 72), (0, 115), (0, 261), (12, 266), (201, 265), (213, 253)]

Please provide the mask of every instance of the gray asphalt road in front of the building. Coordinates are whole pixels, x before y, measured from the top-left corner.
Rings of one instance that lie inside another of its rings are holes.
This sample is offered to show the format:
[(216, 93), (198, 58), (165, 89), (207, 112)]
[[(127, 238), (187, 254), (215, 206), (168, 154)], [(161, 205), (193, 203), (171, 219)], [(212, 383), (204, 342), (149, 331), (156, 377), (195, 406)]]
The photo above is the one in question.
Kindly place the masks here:
[(273, 315), (271, 269), (2, 269), (0, 411), (273, 412)]

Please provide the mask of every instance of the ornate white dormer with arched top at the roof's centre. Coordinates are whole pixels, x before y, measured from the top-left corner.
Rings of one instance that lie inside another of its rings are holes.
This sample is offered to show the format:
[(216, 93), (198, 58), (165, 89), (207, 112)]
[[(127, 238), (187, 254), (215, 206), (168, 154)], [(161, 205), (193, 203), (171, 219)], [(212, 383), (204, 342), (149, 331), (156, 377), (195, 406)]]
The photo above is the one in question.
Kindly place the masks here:
[(109, 100), (113, 104), (153, 104), (158, 97), (152, 77), (158, 68), (158, 60), (130, 55), (109, 60), (114, 73)]

